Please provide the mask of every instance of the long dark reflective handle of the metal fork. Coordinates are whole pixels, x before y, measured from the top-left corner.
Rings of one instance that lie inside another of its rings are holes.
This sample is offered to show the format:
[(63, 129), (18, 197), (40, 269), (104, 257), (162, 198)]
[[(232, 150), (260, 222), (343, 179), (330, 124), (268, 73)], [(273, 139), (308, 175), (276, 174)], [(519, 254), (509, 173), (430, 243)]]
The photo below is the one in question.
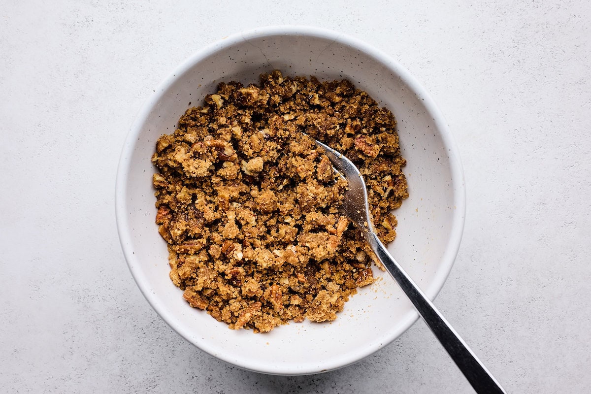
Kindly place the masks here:
[(452, 357), (452, 360), (459, 367), (460, 371), (466, 376), (466, 379), (470, 382), (476, 393), (506, 394), (501, 385), (499, 385), (478, 357), (476, 357), (472, 349), (456, 333), (456, 330), (447, 323), (447, 320), (445, 320), (443, 315), (433, 305), (433, 302), (418, 288), (417, 284), (402, 269), (400, 264), (392, 258), (378, 236), (374, 232), (369, 232), (366, 233), (366, 237), (378, 256), (379, 261), (382, 262), (390, 275), (398, 282), (402, 291), (413, 302), (415, 309), (423, 317), (425, 323), (427, 323), (433, 334), (435, 334), (447, 353)]

